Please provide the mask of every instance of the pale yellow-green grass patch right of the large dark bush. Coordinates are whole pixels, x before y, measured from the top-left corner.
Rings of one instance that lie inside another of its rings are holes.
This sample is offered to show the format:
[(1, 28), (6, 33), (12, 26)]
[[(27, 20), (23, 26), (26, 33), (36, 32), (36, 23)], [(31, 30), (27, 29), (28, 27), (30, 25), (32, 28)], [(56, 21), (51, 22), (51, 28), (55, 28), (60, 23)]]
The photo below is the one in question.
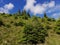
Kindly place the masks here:
[(49, 37), (46, 38), (45, 45), (60, 45), (60, 35), (50, 31)]

